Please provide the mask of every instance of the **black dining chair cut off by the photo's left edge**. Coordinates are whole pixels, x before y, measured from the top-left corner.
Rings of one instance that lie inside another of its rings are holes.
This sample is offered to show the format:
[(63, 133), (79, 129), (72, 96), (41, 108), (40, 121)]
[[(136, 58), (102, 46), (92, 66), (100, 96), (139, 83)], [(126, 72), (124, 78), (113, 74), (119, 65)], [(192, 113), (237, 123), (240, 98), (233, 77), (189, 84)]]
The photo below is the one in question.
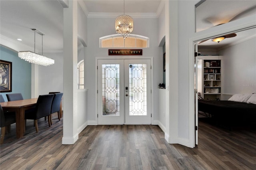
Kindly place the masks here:
[[(1, 105), (0, 105), (1, 106)], [(1, 115), (0, 115), (0, 127), (1, 127), (1, 139), (0, 144), (4, 142), (4, 134), (6, 127), (16, 123), (15, 115), (4, 114), (3, 108), (1, 106)]]

